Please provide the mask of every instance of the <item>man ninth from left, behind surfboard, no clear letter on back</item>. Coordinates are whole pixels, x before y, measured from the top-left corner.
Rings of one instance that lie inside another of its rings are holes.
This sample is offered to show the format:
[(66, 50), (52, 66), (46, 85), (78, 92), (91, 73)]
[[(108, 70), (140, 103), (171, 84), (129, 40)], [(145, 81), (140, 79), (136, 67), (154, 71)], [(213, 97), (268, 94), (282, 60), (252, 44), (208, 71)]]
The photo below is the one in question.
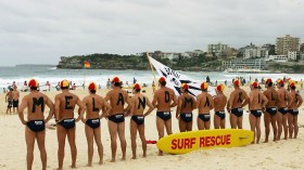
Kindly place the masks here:
[(227, 96), (223, 93), (224, 86), (219, 84), (216, 87), (216, 96), (214, 97), (214, 128), (225, 129), (226, 128), (226, 114), (225, 106), (227, 104)]

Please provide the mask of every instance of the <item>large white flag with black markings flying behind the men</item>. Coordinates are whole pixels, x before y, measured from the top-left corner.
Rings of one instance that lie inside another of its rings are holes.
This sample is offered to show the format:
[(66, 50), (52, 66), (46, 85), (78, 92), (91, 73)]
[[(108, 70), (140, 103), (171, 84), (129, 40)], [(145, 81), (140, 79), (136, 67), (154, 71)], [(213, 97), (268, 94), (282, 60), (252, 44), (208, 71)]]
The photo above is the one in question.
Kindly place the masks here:
[[(173, 70), (172, 68), (163, 65), (150, 56), (148, 57), (150, 58), (151, 64), (154, 66), (159, 75), (166, 78), (166, 87), (173, 89), (176, 95), (180, 95), (181, 83), (187, 83), (189, 86), (189, 93), (193, 96), (197, 96), (202, 92), (200, 82)], [(213, 88), (208, 88), (208, 93), (212, 96), (216, 95), (216, 92)]]

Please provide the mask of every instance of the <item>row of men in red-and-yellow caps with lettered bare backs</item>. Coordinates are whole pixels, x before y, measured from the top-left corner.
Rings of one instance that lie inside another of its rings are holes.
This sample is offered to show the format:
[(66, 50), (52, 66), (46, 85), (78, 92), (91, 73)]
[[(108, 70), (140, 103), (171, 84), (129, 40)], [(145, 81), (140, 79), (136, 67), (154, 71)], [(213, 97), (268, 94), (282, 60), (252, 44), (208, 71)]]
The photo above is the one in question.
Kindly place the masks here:
[[(281, 139), (296, 139), (299, 107), (303, 100), (300, 93), (295, 91), (294, 81), (267, 79), (263, 93), (256, 81), (251, 82), (251, 92), (248, 95), (241, 88), (239, 79), (233, 80), (235, 90), (230, 93), (229, 99), (224, 94), (225, 86), (216, 87), (216, 96), (212, 96), (208, 90), (208, 83), (201, 83), (201, 94), (192, 96), (189, 93), (189, 86), (180, 86), (181, 94), (177, 96), (173, 89), (166, 87), (166, 79), (159, 79), (159, 89), (154, 83), (153, 100), (150, 102), (143, 93), (139, 83), (132, 86), (132, 96), (122, 89), (122, 81), (118, 77), (110, 80), (111, 90), (106, 95), (97, 94), (98, 86), (94, 82), (89, 83), (89, 93), (83, 100), (69, 91), (71, 82), (62, 80), (59, 86), (61, 93), (55, 95), (54, 103), (43, 93), (38, 91), (39, 83), (31, 79), (28, 82), (29, 93), (25, 95), (18, 107), (21, 122), (26, 126), (25, 135), (27, 144), (27, 169), (31, 169), (34, 159), (35, 140), (40, 151), (42, 169), (47, 167), (47, 152), (45, 147), (46, 123), (54, 117), (58, 132), (58, 160), (59, 168), (63, 168), (65, 139), (71, 146), (72, 168), (76, 168), (77, 147), (75, 143), (76, 122), (83, 121), (85, 126), (88, 142), (88, 166), (92, 166), (93, 141), (98, 146), (100, 161), (103, 164), (103, 145), (101, 142), (100, 119), (106, 118), (109, 132), (111, 136), (111, 162), (116, 160), (117, 136), (121, 141), (122, 159), (126, 159), (126, 138), (125, 138), (125, 117), (130, 118), (131, 152), (132, 159), (137, 158), (137, 132), (139, 133), (142, 156), (147, 156), (147, 140), (144, 135), (144, 117), (156, 108), (156, 129), (159, 139), (165, 136), (165, 131), (169, 135), (172, 130), (173, 107), (176, 107), (175, 117), (179, 122), (180, 132), (192, 131), (194, 120), (193, 110), (198, 109), (197, 125), (199, 130), (208, 130), (211, 128), (212, 115), (214, 110), (214, 128), (225, 129), (227, 126), (226, 116), (229, 116), (231, 129), (243, 128), (243, 107), (249, 105), (249, 118), (251, 130), (255, 134), (252, 143), (259, 143), (261, 139), (261, 117), (264, 113), (265, 141), (268, 142), (270, 125), (274, 131), (274, 141)], [(288, 89), (284, 86), (288, 84)], [(275, 89), (275, 86), (278, 90)], [(75, 118), (75, 106), (78, 106), (78, 116)], [(43, 112), (46, 106), (49, 107), (48, 117), (45, 118)], [(24, 118), (24, 110), (27, 109), (27, 119)], [(226, 110), (229, 113), (226, 114)], [(163, 152), (159, 151), (162, 156)]]

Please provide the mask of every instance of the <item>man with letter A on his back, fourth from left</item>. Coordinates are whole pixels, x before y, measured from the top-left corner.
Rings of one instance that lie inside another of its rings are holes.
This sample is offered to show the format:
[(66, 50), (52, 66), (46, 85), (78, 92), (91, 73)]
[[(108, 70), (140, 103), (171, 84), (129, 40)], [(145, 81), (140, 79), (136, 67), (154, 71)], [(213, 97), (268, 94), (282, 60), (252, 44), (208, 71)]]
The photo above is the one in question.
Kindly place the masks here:
[[(117, 134), (121, 140), (121, 147), (123, 152), (122, 160), (126, 160), (126, 148), (127, 142), (125, 136), (125, 104), (130, 105), (128, 93), (121, 89), (122, 82), (118, 77), (114, 77), (111, 81), (112, 90), (110, 90), (104, 100), (110, 101), (110, 105), (112, 107), (109, 113), (109, 132), (111, 135), (111, 149), (112, 149), (112, 159), (111, 162), (115, 161), (116, 158), (116, 149), (117, 149)], [(128, 107), (126, 107), (128, 108)]]

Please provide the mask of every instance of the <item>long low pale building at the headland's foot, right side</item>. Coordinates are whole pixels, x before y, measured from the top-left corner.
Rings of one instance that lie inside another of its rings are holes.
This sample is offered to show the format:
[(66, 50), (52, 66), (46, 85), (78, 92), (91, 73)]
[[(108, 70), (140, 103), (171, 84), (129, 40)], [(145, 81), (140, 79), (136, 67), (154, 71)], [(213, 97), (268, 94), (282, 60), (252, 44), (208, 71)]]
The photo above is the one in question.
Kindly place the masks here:
[(251, 60), (242, 60), (235, 58), (231, 61), (223, 61), (221, 66), (224, 69), (264, 69), (265, 67), (265, 58), (251, 58)]

